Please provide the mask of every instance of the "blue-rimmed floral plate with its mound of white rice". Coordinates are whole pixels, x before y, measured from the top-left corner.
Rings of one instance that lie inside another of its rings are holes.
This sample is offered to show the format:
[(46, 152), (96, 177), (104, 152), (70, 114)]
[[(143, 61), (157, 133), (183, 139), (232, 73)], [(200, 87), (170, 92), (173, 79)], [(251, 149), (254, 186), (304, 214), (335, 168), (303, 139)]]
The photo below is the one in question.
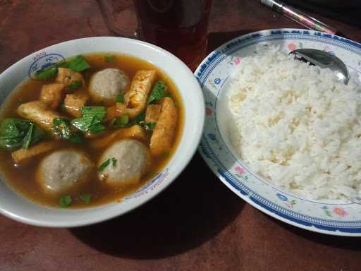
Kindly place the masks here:
[[(348, 85), (290, 51), (321, 49)], [(361, 44), (322, 32), (237, 37), (195, 71), (205, 102), (200, 153), (257, 209), (324, 234), (361, 236)]]

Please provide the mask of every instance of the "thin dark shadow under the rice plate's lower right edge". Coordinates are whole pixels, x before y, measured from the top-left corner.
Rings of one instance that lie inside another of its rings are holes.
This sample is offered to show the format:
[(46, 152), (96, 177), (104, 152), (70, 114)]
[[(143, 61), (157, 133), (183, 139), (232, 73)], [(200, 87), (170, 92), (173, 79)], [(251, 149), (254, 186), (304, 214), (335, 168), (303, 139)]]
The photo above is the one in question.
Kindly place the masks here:
[[(265, 214), (264, 214), (265, 215)], [(270, 217), (276, 224), (283, 227), (287, 231), (291, 231), (293, 234), (308, 239), (314, 243), (322, 243), (326, 246), (332, 246), (334, 248), (348, 249), (351, 251), (361, 251), (360, 237), (348, 237), (348, 236), (332, 236), (329, 234), (319, 234), (313, 231), (307, 231), (305, 229), (300, 229), (298, 227), (293, 227), (292, 225), (283, 223), (273, 217)]]

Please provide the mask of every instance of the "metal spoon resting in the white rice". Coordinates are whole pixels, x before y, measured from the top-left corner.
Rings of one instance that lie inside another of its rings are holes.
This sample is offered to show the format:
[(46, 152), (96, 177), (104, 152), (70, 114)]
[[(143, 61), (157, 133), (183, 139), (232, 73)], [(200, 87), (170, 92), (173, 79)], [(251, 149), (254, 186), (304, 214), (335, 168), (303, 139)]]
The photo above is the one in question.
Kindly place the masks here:
[(290, 52), (295, 55), (295, 59), (310, 62), (315, 66), (321, 68), (330, 68), (332, 71), (337, 72), (338, 80), (348, 84), (350, 76), (348, 76), (348, 70), (341, 59), (333, 54), (324, 52), (317, 49), (297, 49)]

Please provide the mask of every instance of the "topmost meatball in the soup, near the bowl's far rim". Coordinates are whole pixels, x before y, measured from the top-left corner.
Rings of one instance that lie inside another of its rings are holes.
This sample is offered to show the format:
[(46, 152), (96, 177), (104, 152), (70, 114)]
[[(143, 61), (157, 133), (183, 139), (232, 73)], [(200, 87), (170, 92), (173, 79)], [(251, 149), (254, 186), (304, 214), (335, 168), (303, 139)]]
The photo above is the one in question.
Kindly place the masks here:
[(94, 102), (110, 104), (116, 96), (124, 94), (129, 78), (118, 68), (106, 68), (95, 73), (90, 79), (89, 92)]

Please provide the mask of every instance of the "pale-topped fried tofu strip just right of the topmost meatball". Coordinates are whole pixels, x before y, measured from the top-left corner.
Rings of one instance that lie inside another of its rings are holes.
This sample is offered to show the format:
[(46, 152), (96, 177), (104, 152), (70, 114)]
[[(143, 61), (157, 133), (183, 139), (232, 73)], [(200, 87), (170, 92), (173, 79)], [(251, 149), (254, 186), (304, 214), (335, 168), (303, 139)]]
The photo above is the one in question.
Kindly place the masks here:
[(137, 71), (133, 77), (130, 89), (124, 95), (128, 116), (134, 118), (142, 113), (147, 106), (147, 98), (157, 76), (157, 71)]

